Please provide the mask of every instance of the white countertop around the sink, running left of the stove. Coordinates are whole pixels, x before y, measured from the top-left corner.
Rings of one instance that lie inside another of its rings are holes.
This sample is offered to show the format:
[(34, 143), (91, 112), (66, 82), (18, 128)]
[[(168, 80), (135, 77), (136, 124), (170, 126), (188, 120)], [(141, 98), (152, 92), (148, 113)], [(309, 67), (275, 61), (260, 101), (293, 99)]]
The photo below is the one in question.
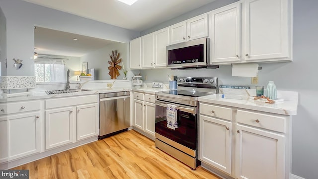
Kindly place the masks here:
[(79, 96), (79, 95), (91, 95), (91, 94), (111, 93), (111, 92), (120, 92), (120, 91), (138, 91), (138, 92), (155, 94), (155, 92), (166, 91), (169, 89), (151, 88), (151, 87), (137, 87), (137, 88), (136, 87), (113, 87), (113, 88), (91, 88), (88, 90), (91, 90), (91, 91), (72, 92), (72, 93), (64, 93), (64, 94), (46, 94), (45, 91), (35, 91), (35, 92), (14, 94), (12, 96), (0, 94), (0, 102), (48, 99), (48, 98), (55, 98), (55, 97), (71, 97), (71, 96)]

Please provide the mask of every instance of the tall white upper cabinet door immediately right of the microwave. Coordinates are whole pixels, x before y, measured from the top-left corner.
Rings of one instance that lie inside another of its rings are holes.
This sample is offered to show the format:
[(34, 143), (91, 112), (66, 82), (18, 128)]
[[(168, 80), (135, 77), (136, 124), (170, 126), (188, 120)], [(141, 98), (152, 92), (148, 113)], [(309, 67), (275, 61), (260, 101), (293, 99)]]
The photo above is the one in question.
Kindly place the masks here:
[(211, 64), (240, 61), (240, 3), (212, 11)]

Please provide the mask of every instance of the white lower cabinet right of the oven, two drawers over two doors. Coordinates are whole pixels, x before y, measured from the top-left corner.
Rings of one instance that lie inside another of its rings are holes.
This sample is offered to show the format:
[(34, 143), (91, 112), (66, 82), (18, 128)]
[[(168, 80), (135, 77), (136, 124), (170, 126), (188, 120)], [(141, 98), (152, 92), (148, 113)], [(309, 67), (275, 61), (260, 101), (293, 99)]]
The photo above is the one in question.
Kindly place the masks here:
[(290, 121), (287, 115), (200, 102), (199, 160), (236, 179), (289, 179)]

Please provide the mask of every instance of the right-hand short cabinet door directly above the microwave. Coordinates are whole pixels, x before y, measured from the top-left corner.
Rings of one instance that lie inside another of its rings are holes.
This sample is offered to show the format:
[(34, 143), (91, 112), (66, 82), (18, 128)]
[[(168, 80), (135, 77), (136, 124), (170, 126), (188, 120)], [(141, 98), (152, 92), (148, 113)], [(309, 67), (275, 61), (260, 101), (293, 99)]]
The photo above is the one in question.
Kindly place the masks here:
[(208, 14), (199, 15), (187, 20), (187, 40), (194, 40), (207, 37), (208, 34)]

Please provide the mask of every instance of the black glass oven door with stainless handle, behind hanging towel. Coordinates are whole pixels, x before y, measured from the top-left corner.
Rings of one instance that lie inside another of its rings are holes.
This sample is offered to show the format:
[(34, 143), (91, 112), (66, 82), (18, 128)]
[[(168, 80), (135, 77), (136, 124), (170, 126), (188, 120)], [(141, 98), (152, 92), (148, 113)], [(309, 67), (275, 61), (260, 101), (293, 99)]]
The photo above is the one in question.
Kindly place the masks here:
[[(176, 105), (178, 128), (167, 127), (167, 104)], [(197, 145), (197, 109), (171, 102), (156, 100), (155, 132), (192, 150)]]

